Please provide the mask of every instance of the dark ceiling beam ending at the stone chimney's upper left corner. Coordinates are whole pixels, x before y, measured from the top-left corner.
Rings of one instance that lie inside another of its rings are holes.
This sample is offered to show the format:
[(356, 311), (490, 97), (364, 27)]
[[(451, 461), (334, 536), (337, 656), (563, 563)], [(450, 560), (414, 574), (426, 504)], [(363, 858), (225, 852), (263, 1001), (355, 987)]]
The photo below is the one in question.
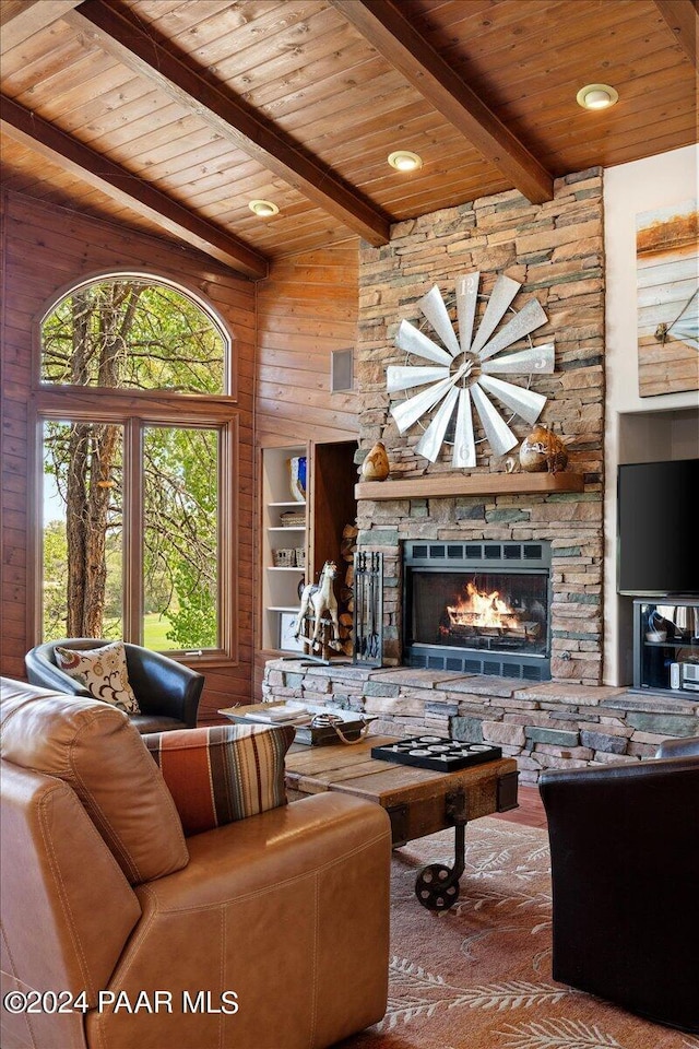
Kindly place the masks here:
[(123, 9), (111, 8), (103, 0), (86, 0), (67, 21), (369, 244), (375, 247), (388, 244), (391, 219), (386, 212), (374, 207), (271, 120), (211, 83), (183, 57), (164, 47), (153, 27), (144, 32), (125, 16)]

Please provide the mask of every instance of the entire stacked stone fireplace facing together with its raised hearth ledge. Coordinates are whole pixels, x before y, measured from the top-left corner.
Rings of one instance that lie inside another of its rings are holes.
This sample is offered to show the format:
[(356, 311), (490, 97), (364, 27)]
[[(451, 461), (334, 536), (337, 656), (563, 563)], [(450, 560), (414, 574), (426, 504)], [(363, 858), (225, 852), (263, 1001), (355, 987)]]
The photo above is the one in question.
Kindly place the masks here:
[[(445, 296), (455, 278), (479, 270), (487, 295), (499, 273), (520, 281), (521, 307), (535, 295), (548, 323), (533, 342), (554, 341), (556, 370), (532, 387), (548, 398), (542, 420), (570, 436), (569, 467), (584, 478), (580, 494), (360, 499), (358, 543), (383, 552), (383, 661), (381, 669), (266, 664), (263, 697), (301, 699), (357, 710), (391, 735), (434, 732), (497, 743), (516, 756), (524, 782), (541, 769), (637, 762), (668, 736), (699, 734), (699, 696), (635, 695), (602, 682), (603, 635), (603, 419), (604, 258), (601, 172), (556, 182), (553, 201), (533, 205), (501, 193), (425, 215), (392, 228), (382, 248), (360, 254), (359, 459), (382, 439), (391, 479), (416, 478), (426, 460), (415, 455), (420, 431), (400, 436), (389, 414), (386, 367), (404, 363), (394, 339), (400, 321), (420, 322), (418, 299), (434, 284)], [(520, 437), (530, 427), (514, 421)], [(478, 436), (476, 434), (476, 436)], [(505, 471), (478, 445), (471, 475)], [(453, 473), (449, 457), (429, 474)], [(386, 482), (390, 484), (390, 480)], [(530, 684), (508, 677), (401, 668), (402, 556), (406, 539), (439, 541), (549, 540), (552, 543), (552, 677)], [(607, 544), (611, 549), (611, 544)], [(613, 554), (612, 554), (613, 556)]]

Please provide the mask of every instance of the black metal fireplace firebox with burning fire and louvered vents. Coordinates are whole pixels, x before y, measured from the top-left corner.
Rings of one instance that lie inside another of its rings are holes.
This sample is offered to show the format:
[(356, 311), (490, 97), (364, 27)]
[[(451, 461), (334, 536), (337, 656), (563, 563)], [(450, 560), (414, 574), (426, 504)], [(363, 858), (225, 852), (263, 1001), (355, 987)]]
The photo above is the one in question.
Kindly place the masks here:
[(408, 667), (550, 679), (550, 544), (403, 545)]

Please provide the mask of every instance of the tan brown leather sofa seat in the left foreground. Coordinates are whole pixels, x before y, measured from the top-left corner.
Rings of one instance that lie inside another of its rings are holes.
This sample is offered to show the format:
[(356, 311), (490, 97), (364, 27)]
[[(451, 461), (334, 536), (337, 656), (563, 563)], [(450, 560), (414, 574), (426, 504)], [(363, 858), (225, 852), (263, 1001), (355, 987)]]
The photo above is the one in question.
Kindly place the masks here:
[(126, 715), (0, 689), (3, 1049), (321, 1049), (382, 1017), (382, 809), (325, 793), (185, 839)]

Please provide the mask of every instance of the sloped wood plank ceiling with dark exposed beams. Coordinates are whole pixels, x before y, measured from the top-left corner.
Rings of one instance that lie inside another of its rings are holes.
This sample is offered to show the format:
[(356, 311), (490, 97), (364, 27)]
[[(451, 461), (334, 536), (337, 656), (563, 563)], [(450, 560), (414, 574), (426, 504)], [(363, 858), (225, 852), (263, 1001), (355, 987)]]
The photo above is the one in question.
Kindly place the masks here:
[[(257, 279), (696, 142), (698, 2), (1, 0), (3, 185)], [(618, 104), (581, 109), (588, 83)], [(423, 167), (394, 172), (399, 149)]]

